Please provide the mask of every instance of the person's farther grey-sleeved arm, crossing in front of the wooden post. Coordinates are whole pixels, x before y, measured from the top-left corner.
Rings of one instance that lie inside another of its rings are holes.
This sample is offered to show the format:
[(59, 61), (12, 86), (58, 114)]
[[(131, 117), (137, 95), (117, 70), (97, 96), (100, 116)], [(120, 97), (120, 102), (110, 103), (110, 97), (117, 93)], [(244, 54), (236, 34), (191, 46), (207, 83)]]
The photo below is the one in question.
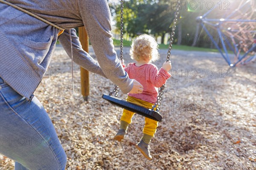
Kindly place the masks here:
[[(107, 78), (105, 74), (102, 72), (102, 69), (99, 67), (99, 63), (96, 60), (94, 60), (90, 56), (90, 54), (83, 50), (81, 43), (79, 41), (79, 37), (76, 36), (75, 29), (71, 29), (71, 36), (73, 45), (73, 61), (76, 62), (76, 64), (80, 65), (82, 68)], [(58, 40), (67, 52), (68, 56), (71, 58), (69, 30), (65, 30), (60, 35)]]

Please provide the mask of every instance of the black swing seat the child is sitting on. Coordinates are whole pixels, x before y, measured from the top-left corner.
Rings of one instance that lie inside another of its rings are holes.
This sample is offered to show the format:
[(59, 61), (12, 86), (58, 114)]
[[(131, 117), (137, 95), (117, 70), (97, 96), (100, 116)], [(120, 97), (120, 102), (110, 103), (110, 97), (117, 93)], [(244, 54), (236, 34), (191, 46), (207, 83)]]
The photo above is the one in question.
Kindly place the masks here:
[(116, 97), (109, 96), (107, 94), (103, 94), (102, 98), (107, 100), (108, 102), (112, 103), (113, 105), (117, 105), (120, 108), (124, 108), (128, 111), (140, 114), (141, 116), (148, 117), (149, 119), (153, 119), (158, 122), (161, 122), (163, 119), (162, 115), (157, 111), (152, 111), (151, 109), (147, 109), (142, 106), (135, 105), (130, 102), (126, 102), (125, 100), (118, 99)]

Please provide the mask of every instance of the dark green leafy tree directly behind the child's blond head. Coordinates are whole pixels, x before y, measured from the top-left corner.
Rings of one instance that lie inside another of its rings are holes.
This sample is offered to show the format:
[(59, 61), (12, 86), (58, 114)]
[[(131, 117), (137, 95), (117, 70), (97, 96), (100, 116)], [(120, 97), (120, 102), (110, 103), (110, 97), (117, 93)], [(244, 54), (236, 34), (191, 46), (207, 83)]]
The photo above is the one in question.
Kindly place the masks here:
[[(170, 32), (170, 25), (174, 19), (174, 10), (170, 8), (170, 1), (161, 0), (145, 0), (129, 1), (129, 4), (137, 4), (138, 6), (125, 6), (124, 8), (124, 32), (131, 37), (137, 34), (147, 33), (154, 36), (161, 36), (162, 42), (165, 34)], [(120, 6), (116, 8), (116, 27), (120, 29)]]

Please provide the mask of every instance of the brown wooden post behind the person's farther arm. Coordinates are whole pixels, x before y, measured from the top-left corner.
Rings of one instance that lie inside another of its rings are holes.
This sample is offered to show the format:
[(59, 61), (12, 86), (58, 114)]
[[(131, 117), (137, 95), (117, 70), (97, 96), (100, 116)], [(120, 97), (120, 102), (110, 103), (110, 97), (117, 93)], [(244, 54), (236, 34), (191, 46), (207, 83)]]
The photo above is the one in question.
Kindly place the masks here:
[[(82, 48), (84, 51), (89, 53), (89, 39), (87, 32), (85, 31), (84, 27), (78, 28), (79, 33), (79, 40), (81, 42)], [(89, 96), (89, 71), (85, 70), (84, 68), (80, 67), (81, 72), (81, 94), (85, 101), (88, 101)]]

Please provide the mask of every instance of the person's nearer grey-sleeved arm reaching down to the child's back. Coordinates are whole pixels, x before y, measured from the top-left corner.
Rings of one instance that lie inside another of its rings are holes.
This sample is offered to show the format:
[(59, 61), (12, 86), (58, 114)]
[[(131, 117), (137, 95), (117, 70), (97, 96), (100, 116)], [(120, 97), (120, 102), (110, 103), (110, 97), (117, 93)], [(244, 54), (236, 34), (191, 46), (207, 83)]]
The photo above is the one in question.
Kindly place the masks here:
[(137, 85), (134, 86), (133, 80), (129, 79), (116, 56), (111, 34), (111, 13), (107, 1), (79, 0), (78, 4), (81, 19), (103, 73), (118, 85), (123, 93), (130, 92)]

